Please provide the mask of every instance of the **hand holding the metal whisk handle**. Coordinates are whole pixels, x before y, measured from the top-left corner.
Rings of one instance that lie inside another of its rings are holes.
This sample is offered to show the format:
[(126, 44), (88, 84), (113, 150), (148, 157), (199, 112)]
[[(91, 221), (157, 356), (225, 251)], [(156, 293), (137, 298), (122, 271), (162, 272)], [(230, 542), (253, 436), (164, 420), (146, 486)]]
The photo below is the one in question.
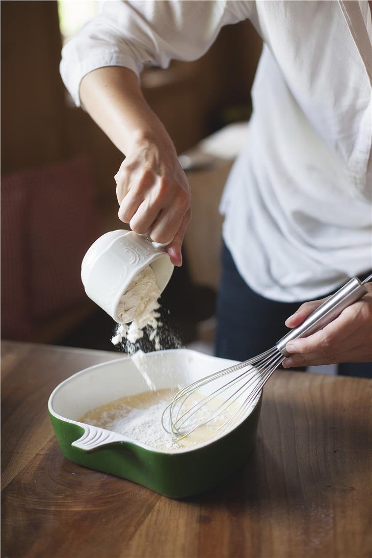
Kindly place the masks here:
[[(290, 358), (284, 368), (338, 364), (340, 362), (372, 362), (372, 283), (365, 284), (368, 294), (342, 310), (340, 316), (320, 331), (286, 345)], [(296, 328), (326, 299), (305, 302), (286, 320), (288, 328)]]

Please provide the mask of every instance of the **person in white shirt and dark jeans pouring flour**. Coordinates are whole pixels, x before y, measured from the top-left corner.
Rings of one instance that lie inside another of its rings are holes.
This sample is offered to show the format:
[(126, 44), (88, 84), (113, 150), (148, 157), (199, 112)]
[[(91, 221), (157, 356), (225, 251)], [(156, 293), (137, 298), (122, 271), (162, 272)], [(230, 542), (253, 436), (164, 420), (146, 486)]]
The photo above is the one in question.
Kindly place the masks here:
[[(216, 333), (216, 353), (240, 360), (281, 338), (285, 319), (293, 328), (320, 304), (298, 308), (302, 301), (323, 299), (372, 267), (369, 3), (107, 2), (61, 61), (76, 105), (125, 155), (115, 175), (119, 218), (171, 242), (167, 252), (180, 266), (190, 188), (138, 76), (145, 64), (199, 58), (221, 27), (247, 18), (264, 46), (247, 142), (221, 201)], [(366, 288), (331, 324), (289, 344), (284, 367), (342, 363), (340, 373), (371, 375)]]

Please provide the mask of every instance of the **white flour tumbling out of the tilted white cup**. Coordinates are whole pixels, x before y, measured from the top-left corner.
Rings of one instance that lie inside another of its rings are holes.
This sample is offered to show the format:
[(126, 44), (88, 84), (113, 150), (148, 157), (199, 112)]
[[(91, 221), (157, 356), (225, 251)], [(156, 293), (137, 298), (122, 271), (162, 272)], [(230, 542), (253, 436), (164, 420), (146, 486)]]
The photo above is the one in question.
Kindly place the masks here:
[[(149, 340), (154, 341), (155, 350), (161, 349), (158, 336), (158, 327), (162, 325), (158, 320), (160, 296), (154, 272), (147, 266), (138, 273), (120, 299), (118, 315), (122, 323), (118, 324), (111, 342), (114, 345), (125, 342), (127, 353), (134, 354), (134, 344), (143, 338), (143, 331), (147, 329)], [(129, 321), (132, 321), (131, 325), (127, 324)]]

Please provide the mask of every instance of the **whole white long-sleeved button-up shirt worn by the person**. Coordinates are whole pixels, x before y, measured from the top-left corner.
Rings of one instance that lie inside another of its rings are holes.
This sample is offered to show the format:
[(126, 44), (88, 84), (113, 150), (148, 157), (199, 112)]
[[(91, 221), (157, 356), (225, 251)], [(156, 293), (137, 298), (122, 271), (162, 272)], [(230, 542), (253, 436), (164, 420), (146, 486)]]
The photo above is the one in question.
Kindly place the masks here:
[(195, 60), (222, 26), (247, 18), (264, 49), (221, 201), (223, 236), (253, 290), (308, 300), (372, 267), (367, 1), (107, 2), (64, 47), (61, 74), (79, 105), (90, 71)]

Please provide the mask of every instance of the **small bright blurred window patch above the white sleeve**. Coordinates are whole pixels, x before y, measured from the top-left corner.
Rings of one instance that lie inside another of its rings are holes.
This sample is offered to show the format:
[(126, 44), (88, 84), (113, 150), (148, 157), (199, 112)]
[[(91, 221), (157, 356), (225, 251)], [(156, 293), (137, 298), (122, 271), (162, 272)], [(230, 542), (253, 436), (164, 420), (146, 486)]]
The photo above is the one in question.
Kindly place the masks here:
[(100, 0), (57, 0), (62, 42), (71, 39), (91, 17), (102, 12)]

